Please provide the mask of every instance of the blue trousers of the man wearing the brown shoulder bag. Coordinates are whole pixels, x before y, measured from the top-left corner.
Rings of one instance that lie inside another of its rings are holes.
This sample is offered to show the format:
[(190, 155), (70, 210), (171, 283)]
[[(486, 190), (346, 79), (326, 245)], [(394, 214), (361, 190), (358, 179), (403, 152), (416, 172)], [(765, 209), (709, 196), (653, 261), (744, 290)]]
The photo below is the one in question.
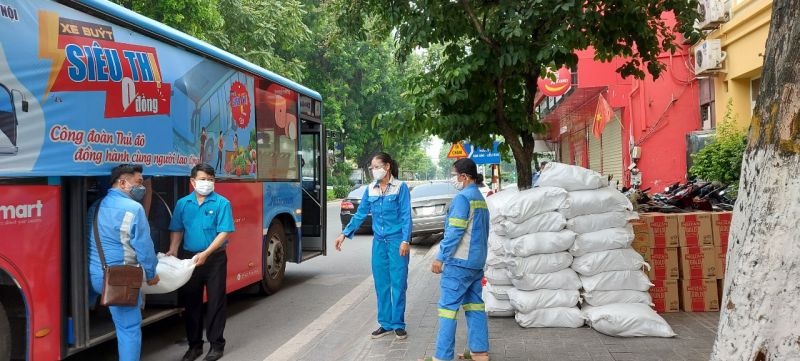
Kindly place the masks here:
[[(102, 276), (91, 277), (92, 289), (99, 295), (103, 289)], [(142, 298), (139, 306), (108, 306), (117, 331), (119, 361), (139, 361), (142, 352)]]

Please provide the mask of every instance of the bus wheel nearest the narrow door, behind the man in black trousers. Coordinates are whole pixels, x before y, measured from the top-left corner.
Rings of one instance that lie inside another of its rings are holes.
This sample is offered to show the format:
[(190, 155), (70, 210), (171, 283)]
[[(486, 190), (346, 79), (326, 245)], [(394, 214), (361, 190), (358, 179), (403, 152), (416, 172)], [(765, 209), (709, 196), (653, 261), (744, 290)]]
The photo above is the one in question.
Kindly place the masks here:
[(261, 292), (271, 295), (281, 288), (286, 272), (286, 232), (280, 221), (273, 221), (264, 240), (263, 274)]

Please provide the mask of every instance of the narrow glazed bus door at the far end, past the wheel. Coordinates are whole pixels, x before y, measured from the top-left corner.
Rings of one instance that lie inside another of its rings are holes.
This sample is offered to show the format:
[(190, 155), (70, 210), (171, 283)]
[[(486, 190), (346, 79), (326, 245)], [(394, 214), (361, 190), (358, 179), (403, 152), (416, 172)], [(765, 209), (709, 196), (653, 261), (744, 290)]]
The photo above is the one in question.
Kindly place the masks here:
[(325, 136), (323, 125), (303, 119), (300, 128), (300, 166), (303, 189), (302, 250), (303, 260), (325, 255)]

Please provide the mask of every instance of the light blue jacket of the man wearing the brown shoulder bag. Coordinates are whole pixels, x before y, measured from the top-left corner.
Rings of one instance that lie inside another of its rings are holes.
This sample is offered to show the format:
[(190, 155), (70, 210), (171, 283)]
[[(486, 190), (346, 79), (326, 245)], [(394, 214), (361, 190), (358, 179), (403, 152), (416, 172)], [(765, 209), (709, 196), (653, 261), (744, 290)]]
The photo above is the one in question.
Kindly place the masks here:
[[(89, 275), (92, 278), (103, 278), (103, 266), (94, 238), (94, 209), (97, 202), (89, 207), (87, 232), (89, 234)], [(97, 224), (100, 233), (100, 244), (106, 265), (122, 264), (140, 265), (148, 280), (156, 276), (155, 246), (150, 238), (150, 225), (144, 208), (139, 202), (117, 189), (112, 188), (100, 204), (100, 222)]]

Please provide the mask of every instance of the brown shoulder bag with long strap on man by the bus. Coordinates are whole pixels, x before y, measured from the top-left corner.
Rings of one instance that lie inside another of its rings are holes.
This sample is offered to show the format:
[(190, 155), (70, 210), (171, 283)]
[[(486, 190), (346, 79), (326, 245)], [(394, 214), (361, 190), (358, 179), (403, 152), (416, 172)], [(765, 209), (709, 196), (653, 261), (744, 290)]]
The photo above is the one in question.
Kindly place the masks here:
[(120, 265), (109, 266), (100, 244), (100, 231), (97, 223), (100, 215), (100, 204), (94, 209), (94, 241), (97, 245), (97, 254), (100, 264), (103, 265), (103, 291), (100, 294), (100, 304), (103, 306), (137, 306), (139, 304), (139, 289), (142, 288), (144, 271), (139, 266)]

